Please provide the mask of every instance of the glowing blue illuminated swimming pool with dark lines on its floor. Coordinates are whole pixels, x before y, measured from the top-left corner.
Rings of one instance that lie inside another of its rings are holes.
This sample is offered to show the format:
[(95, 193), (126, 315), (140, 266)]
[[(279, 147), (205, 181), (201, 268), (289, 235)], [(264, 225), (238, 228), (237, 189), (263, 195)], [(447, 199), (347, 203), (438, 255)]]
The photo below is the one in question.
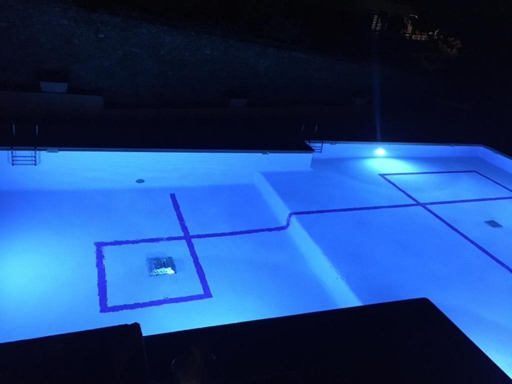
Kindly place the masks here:
[(512, 160), (486, 147), (0, 156), (0, 342), (428, 297), (512, 375)]

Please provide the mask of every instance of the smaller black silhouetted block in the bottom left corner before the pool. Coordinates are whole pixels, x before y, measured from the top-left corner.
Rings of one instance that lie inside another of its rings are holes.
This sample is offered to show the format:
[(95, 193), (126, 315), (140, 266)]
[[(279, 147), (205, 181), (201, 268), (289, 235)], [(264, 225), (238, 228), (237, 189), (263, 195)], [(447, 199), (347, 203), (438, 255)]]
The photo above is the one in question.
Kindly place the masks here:
[(139, 324), (0, 344), (0, 383), (122, 383), (146, 378)]

